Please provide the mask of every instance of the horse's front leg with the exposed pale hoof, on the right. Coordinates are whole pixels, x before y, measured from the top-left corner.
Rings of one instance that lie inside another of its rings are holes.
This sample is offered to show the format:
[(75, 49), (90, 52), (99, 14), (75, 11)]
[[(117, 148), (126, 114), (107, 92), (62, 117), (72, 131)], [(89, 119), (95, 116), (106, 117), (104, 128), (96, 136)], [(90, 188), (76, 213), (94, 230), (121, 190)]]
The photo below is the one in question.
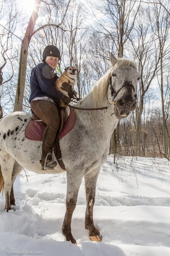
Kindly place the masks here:
[(95, 203), (95, 188), (97, 184), (100, 168), (85, 175), (85, 191), (86, 191), (86, 213), (85, 213), (85, 228), (89, 230), (89, 239), (91, 241), (102, 241), (102, 236), (98, 229), (94, 226), (93, 208)]

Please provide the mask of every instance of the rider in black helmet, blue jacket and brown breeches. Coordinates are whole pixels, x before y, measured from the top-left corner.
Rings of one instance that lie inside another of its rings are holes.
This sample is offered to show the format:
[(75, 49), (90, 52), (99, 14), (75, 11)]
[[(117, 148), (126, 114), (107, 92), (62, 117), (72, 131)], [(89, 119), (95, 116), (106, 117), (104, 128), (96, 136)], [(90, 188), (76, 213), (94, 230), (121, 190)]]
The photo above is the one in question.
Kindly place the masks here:
[(46, 46), (43, 51), (43, 63), (36, 65), (30, 76), (31, 95), (29, 101), (31, 110), (47, 124), (43, 133), (40, 160), (42, 169), (53, 169), (57, 165), (57, 162), (53, 160), (52, 151), (53, 142), (60, 124), (58, 107), (60, 99), (62, 99), (63, 103), (69, 104), (72, 97), (71, 85), (65, 83), (64, 88), (62, 88), (68, 92), (69, 97), (63, 95), (54, 86), (56, 79), (59, 78), (54, 73), (54, 70), (60, 59), (60, 51), (56, 46)]

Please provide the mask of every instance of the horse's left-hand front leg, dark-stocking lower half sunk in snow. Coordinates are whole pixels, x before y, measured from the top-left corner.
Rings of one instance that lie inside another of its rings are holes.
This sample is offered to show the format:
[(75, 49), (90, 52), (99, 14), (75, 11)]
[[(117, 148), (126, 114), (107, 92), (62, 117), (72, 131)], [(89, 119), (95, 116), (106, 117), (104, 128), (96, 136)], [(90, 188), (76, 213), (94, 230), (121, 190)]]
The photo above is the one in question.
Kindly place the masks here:
[(78, 198), (78, 191), (81, 185), (83, 174), (72, 172), (67, 174), (67, 197), (66, 197), (66, 213), (62, 226), (62, 233), (66, 238), (66, 241), (71, 241), (72, 244), (76, 244), (75, 238), (72, 236), (71, 222), (73, 211), (76, 207)]

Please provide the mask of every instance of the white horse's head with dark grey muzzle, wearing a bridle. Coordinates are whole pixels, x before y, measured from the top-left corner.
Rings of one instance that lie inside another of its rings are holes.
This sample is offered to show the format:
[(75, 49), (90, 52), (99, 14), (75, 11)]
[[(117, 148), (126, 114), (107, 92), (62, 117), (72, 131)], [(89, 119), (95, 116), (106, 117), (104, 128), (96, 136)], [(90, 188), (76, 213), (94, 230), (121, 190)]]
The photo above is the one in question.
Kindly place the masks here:
[(140, 79), (136, 62), (111, 55), (110, 94), (117, 119), (124, 119), (136, 108), (137, 82)]

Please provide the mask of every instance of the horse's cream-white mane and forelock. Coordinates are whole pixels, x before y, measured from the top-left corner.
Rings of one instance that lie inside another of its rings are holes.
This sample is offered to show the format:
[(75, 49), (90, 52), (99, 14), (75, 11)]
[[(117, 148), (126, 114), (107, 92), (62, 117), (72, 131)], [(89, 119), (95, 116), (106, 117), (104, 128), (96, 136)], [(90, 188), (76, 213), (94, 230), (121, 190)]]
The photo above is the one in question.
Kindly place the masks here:
[(135, 70), (137, 70), (136, 62), (134, 60), (117, 58), (116, 64), (108, 69), (105, 75), (97, 81), (97, 84), (95, 84), (93, 88), (92, 95), (95, 107), (97, 107), (97, 105), (100, 107), (104, 106), (107, 98), (107, 88), (111, 73), (114, 71), (114, 69), (123, 68), (124, 66), (132, 66)]

